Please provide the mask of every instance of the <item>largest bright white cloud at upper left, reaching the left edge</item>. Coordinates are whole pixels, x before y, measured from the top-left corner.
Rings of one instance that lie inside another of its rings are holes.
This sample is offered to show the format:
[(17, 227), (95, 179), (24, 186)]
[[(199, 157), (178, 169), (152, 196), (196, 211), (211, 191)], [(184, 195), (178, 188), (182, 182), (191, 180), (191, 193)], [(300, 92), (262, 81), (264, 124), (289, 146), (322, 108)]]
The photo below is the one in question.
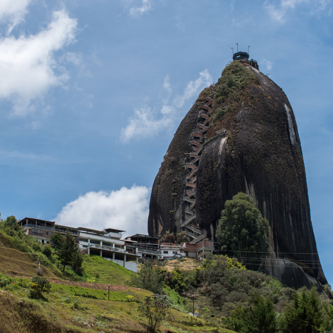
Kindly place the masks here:
[(27, 113), (32, 100), (68, 79), (54, 52), (74, 40), (76, 27), (77, 20), (65, 10), (55, 11), (48, 27), (36, 35), (0, 40), (0, 98), (13, 102), (15, 114)]

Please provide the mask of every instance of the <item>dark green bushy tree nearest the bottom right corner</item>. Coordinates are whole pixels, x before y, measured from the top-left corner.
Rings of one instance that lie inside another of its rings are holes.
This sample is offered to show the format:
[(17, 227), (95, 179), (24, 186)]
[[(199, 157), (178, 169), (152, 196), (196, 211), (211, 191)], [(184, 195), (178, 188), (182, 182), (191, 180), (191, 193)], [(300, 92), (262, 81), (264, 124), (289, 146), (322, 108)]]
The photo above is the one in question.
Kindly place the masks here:
[(320, 300), (316, 288), (300, 292), (294, 290), (294, 297), (287, 305), (280, 319), (282, 333), (316, 333), (323, 322)]

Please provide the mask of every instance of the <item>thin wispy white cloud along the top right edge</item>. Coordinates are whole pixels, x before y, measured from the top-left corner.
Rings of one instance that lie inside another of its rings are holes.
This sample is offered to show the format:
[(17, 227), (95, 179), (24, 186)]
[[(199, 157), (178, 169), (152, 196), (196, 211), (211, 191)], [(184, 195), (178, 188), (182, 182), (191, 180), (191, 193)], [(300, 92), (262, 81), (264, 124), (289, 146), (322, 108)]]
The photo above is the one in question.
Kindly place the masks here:
[[(279, 22), (284, 21), (284, 16), (288, 10), (294, 9), (297, 4), (300, 3), (309, 3), (311, 7), (315, 8), (314, 11), (324, 10), (329, 3), (329, 0), (316, 0), (316, 1), (308, 1), (308, 0), (281, 0), (279, 6), (275, 6), (271, 1), (266, 0), (264, 2), (264, 8), (267, 9), (271, 17)], [(313, 10), (310, 12), (313, 13)]]

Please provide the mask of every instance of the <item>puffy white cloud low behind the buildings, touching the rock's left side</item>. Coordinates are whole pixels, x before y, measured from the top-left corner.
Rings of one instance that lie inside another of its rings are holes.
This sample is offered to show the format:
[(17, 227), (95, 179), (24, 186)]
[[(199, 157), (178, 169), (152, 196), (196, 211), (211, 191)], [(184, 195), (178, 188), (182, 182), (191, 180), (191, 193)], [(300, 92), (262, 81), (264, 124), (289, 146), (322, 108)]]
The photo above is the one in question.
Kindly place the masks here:
[(146, 186), (137, 185), (111, 192), (88, 192), (67, 203), (55, 220), (71, 227), (126, 230), (126, 236), (147, 234), (149, 194)]

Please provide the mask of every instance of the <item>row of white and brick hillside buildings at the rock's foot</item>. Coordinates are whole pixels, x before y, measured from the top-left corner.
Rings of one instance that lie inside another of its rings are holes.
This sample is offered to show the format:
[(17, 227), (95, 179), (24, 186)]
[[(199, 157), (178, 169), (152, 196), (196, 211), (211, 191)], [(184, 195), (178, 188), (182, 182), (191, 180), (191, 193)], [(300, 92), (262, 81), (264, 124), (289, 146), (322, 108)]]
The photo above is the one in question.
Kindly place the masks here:
[(35, 237), (42, 244), (50, 242), (55, 232), (65, 235), (67, 232), (75, 238), (75, 242), (82, 253), (100, 255), (133, 272), (138, 272), (138, 260), (158, 259), (164, 263), (165, 259), (180, 259), (182, 257), (196, 258), (202, 262), (207, 251), (212, 252), (214, 242), (204, 238), (197, 243), (173, 244), (161, 243), (160, 237), (135, 234), (123, 238), (125, 230), (107, 228), (94, 230), (85, 227), (73, 228), (56, 224), (55, 221), (45, 221), (37, 218), (25, 217), (18, 221), (27, 235)]

